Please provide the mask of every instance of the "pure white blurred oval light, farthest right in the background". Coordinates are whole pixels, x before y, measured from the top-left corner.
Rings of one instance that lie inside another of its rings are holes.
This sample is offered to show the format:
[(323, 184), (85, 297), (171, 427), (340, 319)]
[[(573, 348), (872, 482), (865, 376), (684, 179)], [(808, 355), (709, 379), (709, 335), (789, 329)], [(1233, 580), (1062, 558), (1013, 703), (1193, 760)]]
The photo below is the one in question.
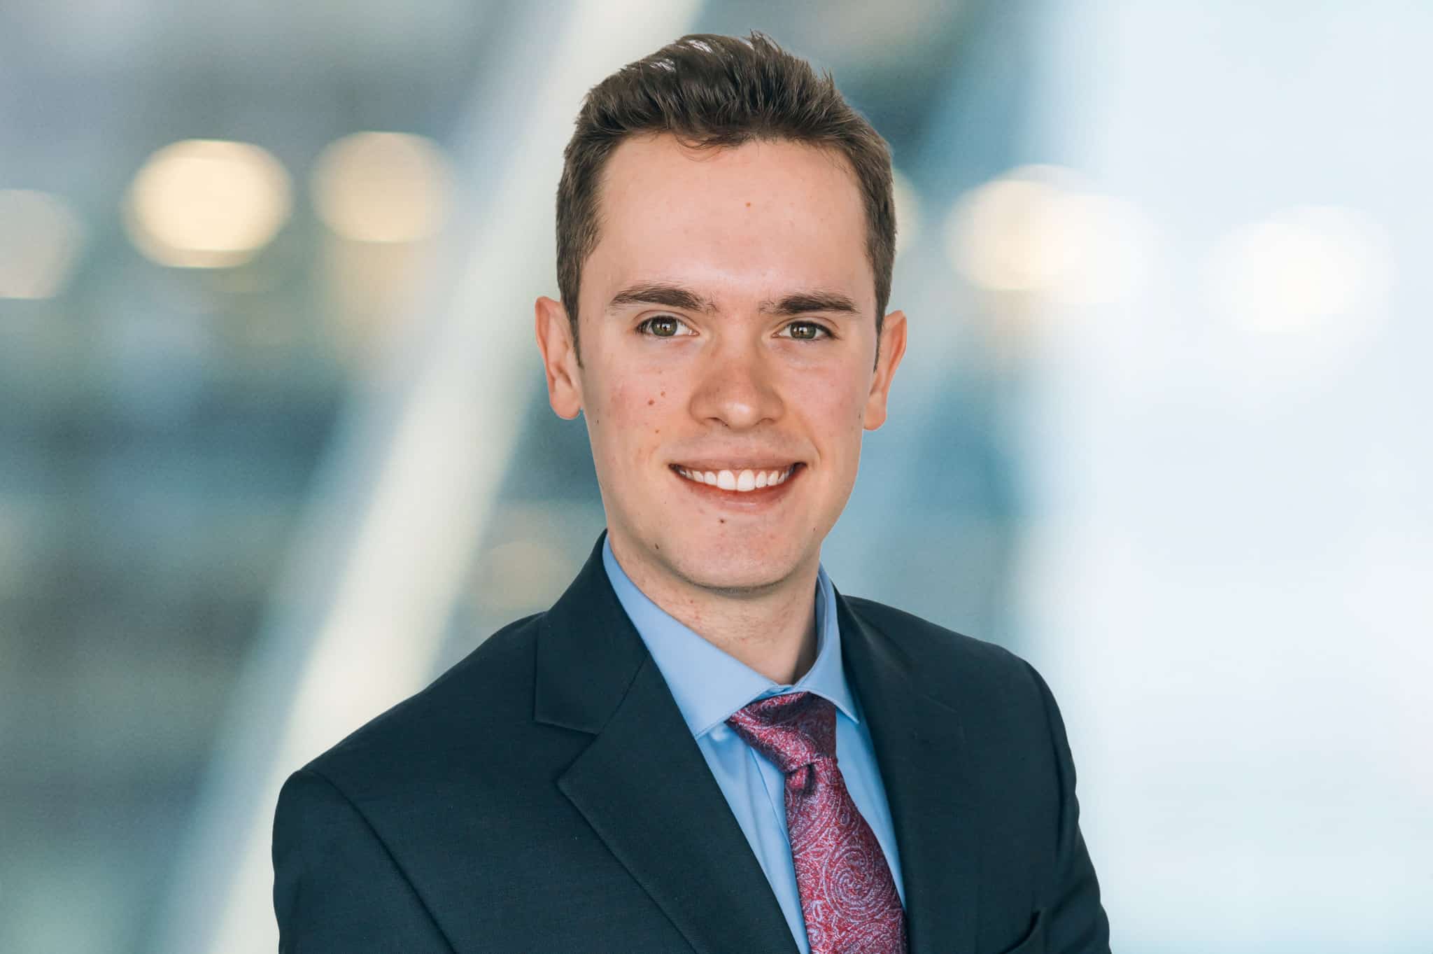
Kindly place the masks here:
[(1215, 312), (1252, 332), (1300, 332), (1376, 305), (1391, 274), (1387, 241), (1353, 209), (1301, 206), (1244, 225), (1205, 271)]

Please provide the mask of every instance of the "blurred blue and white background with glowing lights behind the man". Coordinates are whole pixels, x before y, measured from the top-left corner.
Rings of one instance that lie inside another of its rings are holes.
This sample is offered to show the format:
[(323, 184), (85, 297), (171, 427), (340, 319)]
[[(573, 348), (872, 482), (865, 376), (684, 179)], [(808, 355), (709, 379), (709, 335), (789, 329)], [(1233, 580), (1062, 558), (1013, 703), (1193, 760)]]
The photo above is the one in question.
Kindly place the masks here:
[(898, 170), (837, 587), (1046, 675), (1118, 951), (1433, 950), (1433, 6), (6, 0), (0, 951), (274, 950), (284, 776), (603, 526), (582, 93), (751, 29)]

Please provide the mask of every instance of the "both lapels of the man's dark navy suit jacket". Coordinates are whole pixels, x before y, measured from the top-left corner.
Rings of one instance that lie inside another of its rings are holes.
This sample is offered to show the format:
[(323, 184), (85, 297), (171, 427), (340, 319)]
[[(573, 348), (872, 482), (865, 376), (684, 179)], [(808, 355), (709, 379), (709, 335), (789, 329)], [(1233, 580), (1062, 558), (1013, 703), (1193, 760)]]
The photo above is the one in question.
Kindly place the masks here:
[[(593, 736), (557, 788), (695, 951), (795, 951), (761, 865), (612, 590), (603, 539), (537, 640), (535, 719)], [(896, 639), (840, 593), (835, 603), (900, 847), (910, 954), (969, 950), (977, 839), (960, 713), (919, 688), (919, 666)]]

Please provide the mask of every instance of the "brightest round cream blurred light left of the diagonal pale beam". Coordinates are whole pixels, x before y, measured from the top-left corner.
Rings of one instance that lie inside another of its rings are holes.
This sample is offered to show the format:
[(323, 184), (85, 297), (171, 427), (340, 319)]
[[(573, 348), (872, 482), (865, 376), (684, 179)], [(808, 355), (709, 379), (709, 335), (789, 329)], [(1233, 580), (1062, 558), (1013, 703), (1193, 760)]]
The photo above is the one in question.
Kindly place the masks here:
[(288, 173), (267, 150), (186, 139), (135, 173), (125, 218), (135, 245), (160, 265), (228, 268), (268, 245), (291, 208)]

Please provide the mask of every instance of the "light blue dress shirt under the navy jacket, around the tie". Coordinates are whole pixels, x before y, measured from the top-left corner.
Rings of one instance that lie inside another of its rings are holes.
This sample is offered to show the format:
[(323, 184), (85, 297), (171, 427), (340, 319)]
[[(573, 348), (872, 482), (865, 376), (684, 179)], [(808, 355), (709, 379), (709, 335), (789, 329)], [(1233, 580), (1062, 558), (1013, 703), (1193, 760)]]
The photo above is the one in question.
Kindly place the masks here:
[(797, 872), (787, 838), (785, 776), (727, 725), (727, 716), (749, 702), (785, 692), (814, 692), (835, 705), (835, 755), (841, 776), (851, 801), (886, 852), (886, 862), (896, 878), (896, 891), (904, 904), (906, 888), (900, 880), (896, 829), (870, 732), (845, 682), (835, 590), (831, 589), (825, 567), (820, 567), (817, 573), (815, 663), (794, 686), (782, 686), (716, 649), (649, 600), (623, 573), (606, 540), (602, 543), (602, 563), (622, 609), (652, 653), (676, 699), (676, 708), (696, 739), (696, 748), (702, 751), (716, 785), (751, 842), (751, 851), (767, 872), (767, 881), (787, 915), (801, 954), (810, 954), (811, 945), (807, 941), (801, 894), (797, 891)]

